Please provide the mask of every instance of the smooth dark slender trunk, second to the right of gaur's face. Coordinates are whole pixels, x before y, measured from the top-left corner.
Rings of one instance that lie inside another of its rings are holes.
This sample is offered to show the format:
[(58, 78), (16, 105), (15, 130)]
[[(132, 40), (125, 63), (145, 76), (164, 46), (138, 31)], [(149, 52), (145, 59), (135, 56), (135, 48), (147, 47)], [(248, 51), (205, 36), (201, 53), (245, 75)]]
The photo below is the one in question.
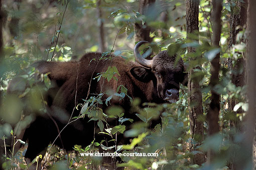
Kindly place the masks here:
[[(212, 31), (213, 31), (213, 46), (219, 48), (220, 33), (221, 33), (221, 10), (222, 10), (222, 0), (212, 0)], [(208, 135), (213, 135), (219, 131), (219, 93), (214, 90), (214, 86), (219, 83), (219, 63), (220, 53), (217, 53), (216, 56), (211, 61), (211, 78), (210, 78), (210, 87), (211, 87), (211, 102), (210, 108), (207, 113), (207, 122), (209, 125)], [(212, 163), (213, 161), (213, 151), (208, 150), (207, 161)]]

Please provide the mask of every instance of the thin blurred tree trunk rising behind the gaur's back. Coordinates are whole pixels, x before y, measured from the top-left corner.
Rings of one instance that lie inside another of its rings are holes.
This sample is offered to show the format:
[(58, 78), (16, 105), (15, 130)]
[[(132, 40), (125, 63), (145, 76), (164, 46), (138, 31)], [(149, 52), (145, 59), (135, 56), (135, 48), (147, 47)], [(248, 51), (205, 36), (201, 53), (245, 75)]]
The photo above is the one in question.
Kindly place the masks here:
[(106, 50), (105, 47), (105, 36), (104, 36), (104, 22), (102, 19), (102, 10), (100, 7), (101, 0), (97, 0), (97, 18), (98, 18), (98, 28), (99, 28), (99, 35), (98, 35), (98, 42), (99, 42), (99, 51), (104, 52)]

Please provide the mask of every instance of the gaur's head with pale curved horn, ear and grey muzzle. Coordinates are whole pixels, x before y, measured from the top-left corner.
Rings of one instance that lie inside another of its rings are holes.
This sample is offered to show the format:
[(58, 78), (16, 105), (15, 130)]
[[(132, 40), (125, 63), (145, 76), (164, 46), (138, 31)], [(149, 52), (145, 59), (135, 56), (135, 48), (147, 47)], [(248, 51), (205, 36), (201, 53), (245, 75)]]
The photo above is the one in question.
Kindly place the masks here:
[(180, 83), (184, 83), (186, 73), (182, 58), (170, 56), (167, 50), (161, 51), (153, 59), (145, 59), (139, 47), (147, 41), (140, 41), (134, 48), (136, 61), (142, 66), (131, 69), (132, 75), (140, 81), (153, 80), (155, 91), (160, 102), (176, 102), (179, 100)]

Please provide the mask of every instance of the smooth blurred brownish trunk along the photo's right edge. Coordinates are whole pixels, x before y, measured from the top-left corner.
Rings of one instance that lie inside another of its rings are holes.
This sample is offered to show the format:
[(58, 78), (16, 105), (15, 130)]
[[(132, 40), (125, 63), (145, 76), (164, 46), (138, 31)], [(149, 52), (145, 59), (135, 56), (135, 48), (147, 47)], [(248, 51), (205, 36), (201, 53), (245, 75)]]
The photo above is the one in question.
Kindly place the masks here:
[[(247, 96), (249, 100), (249, 108), (247, 111), (247, 122), (245, 123), (246, 135), (243, 140), (244, 149), (248, 150), (247, 154), (251, 155), (253, 161), (253, 169), (256, 169), (256, 138), (255, 138), (255, 119), (256, 119), (256, 0), (248, 0), (248, 10), (247, 10), (247, 46), (246, 46), (246, 56), (247, 56)], [(253, 128), (254, 126), (254, 128)], [(253, 139), (253, 140), (252, 140)], [(253, 147), (251, 149), (251, 146)], [(250, 149), (248, 149), (248, 147)]]

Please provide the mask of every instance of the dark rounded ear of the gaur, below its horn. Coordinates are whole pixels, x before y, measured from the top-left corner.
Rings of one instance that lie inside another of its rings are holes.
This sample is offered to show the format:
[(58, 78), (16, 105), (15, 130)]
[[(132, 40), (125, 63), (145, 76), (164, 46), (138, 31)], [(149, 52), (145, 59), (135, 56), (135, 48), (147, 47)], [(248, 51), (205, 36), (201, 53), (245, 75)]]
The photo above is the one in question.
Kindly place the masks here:
[(146, 68), (143, 66), (133, 67), (130, 72), (132, 75), (142, 82), (149, 82), (152, 79), (152, 72), (150, 68)]

